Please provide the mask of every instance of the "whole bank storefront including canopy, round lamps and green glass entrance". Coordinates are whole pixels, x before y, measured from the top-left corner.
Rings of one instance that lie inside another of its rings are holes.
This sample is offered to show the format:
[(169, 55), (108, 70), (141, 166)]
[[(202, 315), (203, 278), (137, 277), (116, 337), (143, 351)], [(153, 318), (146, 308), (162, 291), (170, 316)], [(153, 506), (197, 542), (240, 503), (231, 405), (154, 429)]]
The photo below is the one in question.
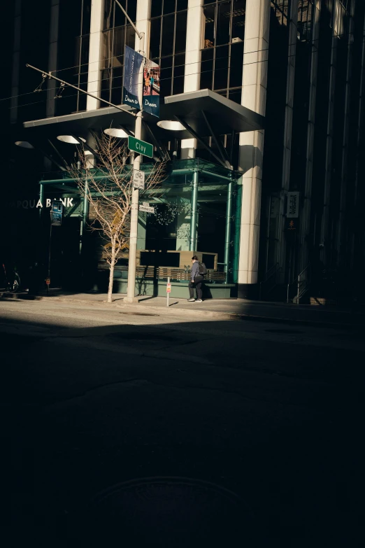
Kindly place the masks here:
[[(78, 193), (71, 166), (80, 152), (90, 154), (98, 164), (95, 136), (103, 132), (117, 132), (117, 138), (127, 143), (127, 136), (133, 136), (135, 130), (131, 110), (127, 105), (98, 108), (31, 120), (19, 129), (17, 139), (24, 139), (17, 141), (20, 146), (38, 148), (45, 154), (48, 150), (48, 159), (60, 169), (43, 175), (41, 203), (34, 208), (41, 211), (43, 248), (48, 250), (48, 206), (52, 199), (64, 200), (62, 226), (52, 230), (51, 285), (75, 286), (77, 279), (78, 287), (106, 290), (105, 241), (88, 228), (92, 211)], [(143, 112), (142, 139), (151, 143), (150, 162), (164, 162), (168, 169), (158, 188), (140, 195), (140, 203), (148, 202), (155, 213), (139, 212), (136, 294), (166, 295), (170, 277), (173, 295), (186, 297), (191, 257), (196, 253), (208, 269), (204, 297), (236, 296), (247, 267), (242, 253), (239, 258), (243, 193), (241, 175), (233, 167), (238, 165), (233, 160), (234, 147), (238, 152), (243, 132), (263, 127), (261, 115), (211, 90), (165, 97), (159, 118)], [(246, 145), (245, 149), (255, 162), (255, 146)], [(146, 162), (141, 169), (148, 171), (150, 165)], [(241, 234), (241, 240), (245, 237)], [(247, 254), (248, 244), (244, 247)], [(127, 269), (126, 250), (115, 269), (117, 292), (127, 290)]]

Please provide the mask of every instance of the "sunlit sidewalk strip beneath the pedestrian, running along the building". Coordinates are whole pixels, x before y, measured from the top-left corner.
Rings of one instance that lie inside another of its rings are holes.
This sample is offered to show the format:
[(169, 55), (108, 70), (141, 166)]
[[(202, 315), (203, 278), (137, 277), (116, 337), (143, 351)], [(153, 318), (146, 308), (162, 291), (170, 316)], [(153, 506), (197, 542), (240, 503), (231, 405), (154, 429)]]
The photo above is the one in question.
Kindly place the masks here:
[(164, 297), (139, 297), (138, 304), (124, 304), (122, 293), (113, 294), (113, 303), (106, 304), (106, 293), (71, 293), (62, 290), (50, 290), (50, 294), (42, 293), (32, 297), (27, 293), (1, 294), (1, 300), (52, 300), (64, 302), (83, 302), (108, 307), (136, 307), (138, 310), (158, 308), (166, 314), (217, 314), (229, 319), (250, 319), (252, 321), (275, 321), (280, 323), (303, 323), (351, 328), (365, 324), (365, 309), (325, 308), (309, 304), (284, 304), (281, 302), (261, 302), (243, 299), (206, 300), (204, 302), (187, 302), (185, 299), (170, 297), (170, 307), (167, 309)]

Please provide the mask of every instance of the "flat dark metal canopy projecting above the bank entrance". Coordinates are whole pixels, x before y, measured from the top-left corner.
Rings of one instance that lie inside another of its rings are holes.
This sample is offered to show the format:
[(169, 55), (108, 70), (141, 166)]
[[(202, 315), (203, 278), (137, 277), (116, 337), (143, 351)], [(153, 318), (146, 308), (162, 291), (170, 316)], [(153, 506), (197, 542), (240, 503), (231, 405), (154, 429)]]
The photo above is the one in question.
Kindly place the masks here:
[[(99, 131), (107, 127), (118, 127), (134, 132), (135, 118), (131, 115), (131, 107), (124, 105), (124, 112), (117, 108), (99, 108), (96, 111), (78, 112), (54, 118), (43, 118), (24, 122), (25, 138), (52, 139), (61, 134), (86, 136), (90, 131)], [(203, 111), (203, 113), (202, 113)], [(148, 122), (157, 139), (176, 134), (178, 139), (189, 139), (192, 134), (186, 129), (179, 132), (170, 132), (157, 126), (159, 120), (174, 120), (175, 117), (185, 120), (187, 125), (194, 129), (199, 136), (210, 136), (209, 125), (206, 124), (208, 115), (215, 134), (230, 134), (235, 132), (249, 132), (264, 129), (264, 117), (249, 108), (234, 103), (211, 90), (199, 90), (165, 97), (160, 106), (160, 117), (155, 118), (143, 113), (143, 120)]]

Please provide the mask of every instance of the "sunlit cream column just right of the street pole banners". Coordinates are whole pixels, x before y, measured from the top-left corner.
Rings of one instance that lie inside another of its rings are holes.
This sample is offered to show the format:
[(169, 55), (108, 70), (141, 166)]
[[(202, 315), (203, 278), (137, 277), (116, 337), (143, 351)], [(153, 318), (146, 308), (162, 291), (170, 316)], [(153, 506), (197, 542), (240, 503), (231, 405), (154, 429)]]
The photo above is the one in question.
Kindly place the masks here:
[[(204, 40), (203, 0), (189, 0), (185, 52), (184, 92), (200, 90), (201, 48)], [(181, 141), (181, 158), (195, 157), (196, 139)]]

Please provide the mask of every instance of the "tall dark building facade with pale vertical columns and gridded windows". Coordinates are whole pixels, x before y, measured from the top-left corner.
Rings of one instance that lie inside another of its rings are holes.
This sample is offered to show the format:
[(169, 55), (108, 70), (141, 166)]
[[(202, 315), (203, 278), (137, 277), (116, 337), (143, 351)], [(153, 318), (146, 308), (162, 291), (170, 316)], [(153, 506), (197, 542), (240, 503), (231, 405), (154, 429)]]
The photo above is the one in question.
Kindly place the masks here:
[[(314, 297), (331, 296), (336, 287), (353, 297), (365, 267), (364, 1), (124, 0), (122, 5), (145, 33), (145, 57), (160, 66), (162, 103), (211, 90), (215, 100), (215, 94), (227, 99), (224, 108), (234, 112), (236, 104), (264, 119), (251, 131), (236, 131), (228, 120), (222, 133), (210, 113), (211, 134), (155, 133), (155, 152), (166, 151), (171, 174), (166, 197), (156, 203), (159, 215), (140, 216), (141, 267), (183, 269), (185, 253), (196, 251), (213, 261), (212, 288), (220, 286), (221, 296), (292, 299), (299, 279), (303, 295), (309, 290)], [(10, 99), (2, 108), (12, 135), (6, 180), (15, 184), (4, 185), (5, 230), (23, 242), (20, 249), (29, 250), (26, 223), (38, 241), (32, 253), (47, 247), (47, 237), (39, 234), (44, 223), (36, 220), (47, 205), (36, 207), (43, 174), (43, 181), (54, 181), (41, 185), (43, 199), (62, 196), (78, 204), (62, 227), (64, 235), (56, 236), (61, 247), (66, 239), (70, 257), (76, 257), (82, 198), (73, 195), (72, 185), (68, 194), (62, 192), (57, 178), (64, 171), (50, 174), (64, 170), (75, 150), (55, 143), (47, 124), (42, 134), (26, 135), (23, 122), (103, 113), (106, 105), (98, 98), (122, 104), (124, 46), (138, 50), (139, 40), (114, 0), (41, 0), (38, 19), (23, 0), (8, 9), (13, 55)], [(59, 87), (26, 63), (94, 97)], [(34, 93), (37, 87), (41, 91)], [(97, 120), (93, 131), (110, 123)], [(14, 147), (21, 139), (34, 150)], [(158, 260), (151, 251), (159, 252)], [(178, 260), (172, 252), (183, 255)], [(85, 246), (83, 253), (85, 262)], [(61, 253), (58, 265), (66, 255)]]

